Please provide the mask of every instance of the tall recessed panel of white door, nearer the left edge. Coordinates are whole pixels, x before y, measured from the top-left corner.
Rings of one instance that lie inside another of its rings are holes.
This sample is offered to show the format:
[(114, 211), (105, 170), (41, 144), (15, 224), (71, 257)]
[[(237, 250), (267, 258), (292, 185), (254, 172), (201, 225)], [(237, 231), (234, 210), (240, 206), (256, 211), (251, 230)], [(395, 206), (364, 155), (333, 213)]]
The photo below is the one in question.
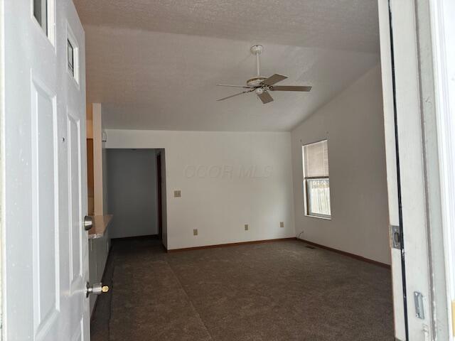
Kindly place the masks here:
[(31, 85), (34, 329), (37, 340), (60, 310), (56, 97), (43, 82)]

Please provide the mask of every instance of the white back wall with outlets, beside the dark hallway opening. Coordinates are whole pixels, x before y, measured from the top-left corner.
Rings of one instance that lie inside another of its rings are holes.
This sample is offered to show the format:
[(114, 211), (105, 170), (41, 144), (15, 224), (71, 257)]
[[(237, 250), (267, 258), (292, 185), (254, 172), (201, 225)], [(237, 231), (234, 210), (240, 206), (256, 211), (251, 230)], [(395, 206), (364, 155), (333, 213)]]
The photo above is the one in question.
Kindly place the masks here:
[(295, 237), (289, 132), (108, 130), (107, 148), (165, 149), (168, 249)]

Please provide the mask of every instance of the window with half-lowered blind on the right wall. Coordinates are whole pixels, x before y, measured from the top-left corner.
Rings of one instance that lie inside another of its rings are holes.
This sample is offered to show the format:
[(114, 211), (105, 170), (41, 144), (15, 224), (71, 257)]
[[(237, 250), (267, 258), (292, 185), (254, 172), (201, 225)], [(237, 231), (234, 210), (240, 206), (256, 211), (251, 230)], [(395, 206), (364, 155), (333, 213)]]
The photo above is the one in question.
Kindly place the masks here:
[(305, 214), (331, 218), (327, 140), (302, 146)]

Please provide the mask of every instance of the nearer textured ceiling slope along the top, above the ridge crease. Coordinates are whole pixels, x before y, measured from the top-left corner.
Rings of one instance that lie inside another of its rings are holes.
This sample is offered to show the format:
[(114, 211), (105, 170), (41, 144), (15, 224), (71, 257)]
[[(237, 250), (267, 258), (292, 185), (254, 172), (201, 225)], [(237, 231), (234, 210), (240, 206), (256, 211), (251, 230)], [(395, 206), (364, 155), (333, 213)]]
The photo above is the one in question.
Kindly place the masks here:
[(377, 0), (75, 0), (82, 23), (377, 52)]

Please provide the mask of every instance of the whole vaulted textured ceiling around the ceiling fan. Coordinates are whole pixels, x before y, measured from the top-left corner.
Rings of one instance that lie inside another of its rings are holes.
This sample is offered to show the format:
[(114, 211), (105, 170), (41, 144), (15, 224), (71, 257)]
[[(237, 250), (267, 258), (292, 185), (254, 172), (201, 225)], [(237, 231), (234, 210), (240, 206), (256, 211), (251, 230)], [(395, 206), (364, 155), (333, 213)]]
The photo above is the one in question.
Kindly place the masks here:
[[(75, 0), (85, 28), (87, 100), (110, 129), (288, 131), (379, 62), (375, 0)], [(309, 93), (223, 102), (255, 75)]]

